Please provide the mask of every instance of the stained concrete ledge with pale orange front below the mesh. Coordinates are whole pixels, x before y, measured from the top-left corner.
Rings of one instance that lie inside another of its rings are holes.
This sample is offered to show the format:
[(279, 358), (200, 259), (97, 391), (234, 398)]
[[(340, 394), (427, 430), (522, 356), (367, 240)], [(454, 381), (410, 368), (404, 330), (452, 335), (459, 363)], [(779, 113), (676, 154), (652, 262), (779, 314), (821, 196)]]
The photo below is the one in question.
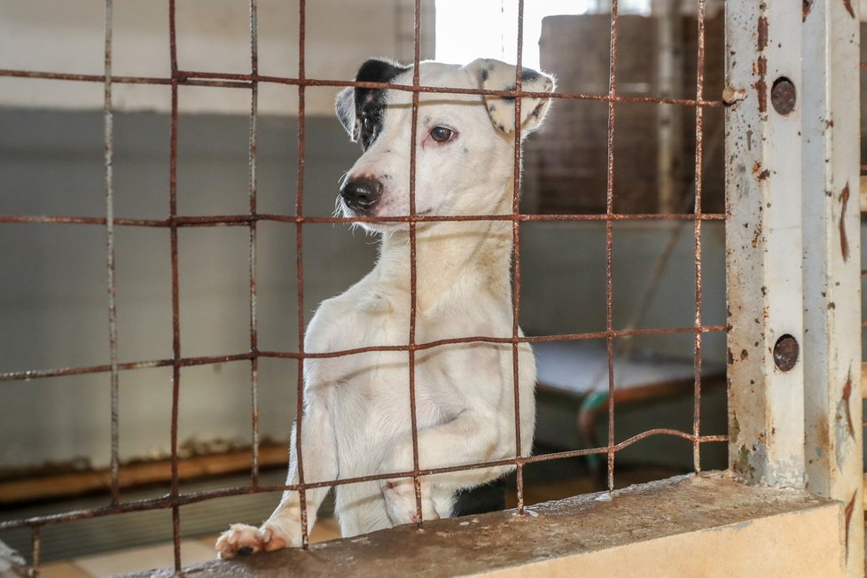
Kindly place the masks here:
[(837, 502), (709, 473), (537, 504), (524, 516), (442, 519), (306, 552), (214, 560), (184, 574), (842, 576), (842, 528)]

